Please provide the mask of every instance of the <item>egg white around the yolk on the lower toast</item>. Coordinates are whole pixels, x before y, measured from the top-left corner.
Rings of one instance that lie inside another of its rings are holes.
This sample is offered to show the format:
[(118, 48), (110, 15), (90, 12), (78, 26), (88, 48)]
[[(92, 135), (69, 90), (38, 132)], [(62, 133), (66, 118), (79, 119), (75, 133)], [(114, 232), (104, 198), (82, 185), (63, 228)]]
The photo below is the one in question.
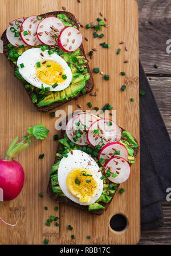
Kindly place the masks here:
[[(88, 162), (91, 162), (90, 165), (88, 165)], [(91, 170), (93, 173), (93, 178), (97, 182), (97, 192), (95, 196), (91, 198), (88, 202), (80, 202), (78, 198), (73, 196), (67, 189), (67, 183), (66, 179), (68, 176), (68, 173), (71, 172), (72, 169), (75, 168), (87, 168)], [(87, 153), (79, 150), (74, 150), (73, 155), (68, 153), (68, 157), (63, 157), (62, 160), (60, 160), (59, 168), (58, 168), (58, 182), (59, 186), (62, 189), (62, 192), (70, 198), (72, 201), (76, 202), (80, 205), (91, 205), (94, 202), (96, 202), (99, 197), (101, 196), (101, 193), (103, 192), (103, 180), (100, 179), (101, 172), (98, 172), (99, 166), (96, 164), (95, 160), (92, 159), (91, 156), (89, 156)]]

